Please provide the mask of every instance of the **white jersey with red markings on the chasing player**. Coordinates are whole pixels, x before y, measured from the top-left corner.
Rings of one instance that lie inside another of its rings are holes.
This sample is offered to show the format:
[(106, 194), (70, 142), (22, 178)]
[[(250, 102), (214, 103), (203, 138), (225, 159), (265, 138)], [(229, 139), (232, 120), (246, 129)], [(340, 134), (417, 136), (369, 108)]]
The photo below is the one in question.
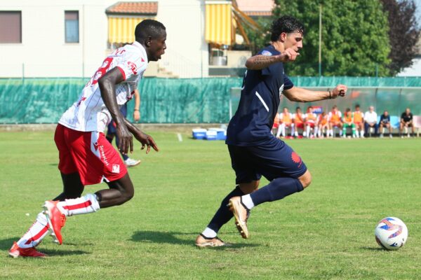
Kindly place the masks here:
[(85, 85), (79, 100), (65, 111), (58, 123), (82, 132), (104, 132), (112, 117), (102, 100), (98, 79), (114, 67), (121, 71), (124, 80), (116, 85), (115, 94), (117, 104), (122, 106), (133, 97), (147, 62), (146, 50), (138, 42), (112, 52)]

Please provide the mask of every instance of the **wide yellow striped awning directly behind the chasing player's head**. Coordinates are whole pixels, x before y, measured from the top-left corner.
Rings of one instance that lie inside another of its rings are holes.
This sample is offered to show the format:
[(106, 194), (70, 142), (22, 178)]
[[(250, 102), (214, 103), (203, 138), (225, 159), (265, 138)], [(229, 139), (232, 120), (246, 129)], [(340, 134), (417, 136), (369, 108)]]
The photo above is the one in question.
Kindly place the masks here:
[(135, 28), (145, 18), (109, 17), (108, 18), (108, 42), (109, 43), (132, 43), (135, 41)]

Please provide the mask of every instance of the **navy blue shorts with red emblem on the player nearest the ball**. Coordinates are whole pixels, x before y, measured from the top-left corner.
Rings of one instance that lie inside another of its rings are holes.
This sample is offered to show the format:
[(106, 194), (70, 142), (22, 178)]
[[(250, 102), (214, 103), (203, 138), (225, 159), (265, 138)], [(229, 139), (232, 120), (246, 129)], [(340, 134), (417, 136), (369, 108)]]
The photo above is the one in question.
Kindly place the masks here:
[(250, 183), (265, 176), (269, 181), (280, 177), (298, 177), (305, 174), (307, 167), (300, 156), (280, 139), (260, 146), (228, 145), (236, 183)]

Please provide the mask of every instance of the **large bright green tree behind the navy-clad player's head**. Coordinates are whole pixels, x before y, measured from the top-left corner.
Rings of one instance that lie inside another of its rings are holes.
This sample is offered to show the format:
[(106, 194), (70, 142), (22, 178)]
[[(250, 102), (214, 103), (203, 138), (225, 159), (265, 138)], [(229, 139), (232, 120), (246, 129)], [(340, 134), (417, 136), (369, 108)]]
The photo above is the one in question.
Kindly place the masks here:
[[(319, 7), (322, 6), (321, 74), (389, 75), (387, 15), (379, 0), (276, 0), (273, 18), (292, 15), (305, 25), (303, 48), (286, 65), (290, 76), (319, 75)], [(267, 27), (268, 29), (268, 27)], [(269, 42), (267, 34), (258, 41)], [(260, 45), (260, 47), (262, 47)]]

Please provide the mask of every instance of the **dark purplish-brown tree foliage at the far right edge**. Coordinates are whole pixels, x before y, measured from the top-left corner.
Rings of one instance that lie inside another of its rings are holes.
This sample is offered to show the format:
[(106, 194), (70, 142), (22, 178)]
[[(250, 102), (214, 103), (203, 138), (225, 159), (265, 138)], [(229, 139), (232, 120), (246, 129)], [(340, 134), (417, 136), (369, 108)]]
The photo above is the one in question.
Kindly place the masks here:
[(416, 6), (414, 1), (381, 1), (389, 19), (389, 41), (392, 48), (389, 69), (395, 74), (411, 66), (418, 52), (416, 44), (420, 38), (420, 29), (415, 17)]

